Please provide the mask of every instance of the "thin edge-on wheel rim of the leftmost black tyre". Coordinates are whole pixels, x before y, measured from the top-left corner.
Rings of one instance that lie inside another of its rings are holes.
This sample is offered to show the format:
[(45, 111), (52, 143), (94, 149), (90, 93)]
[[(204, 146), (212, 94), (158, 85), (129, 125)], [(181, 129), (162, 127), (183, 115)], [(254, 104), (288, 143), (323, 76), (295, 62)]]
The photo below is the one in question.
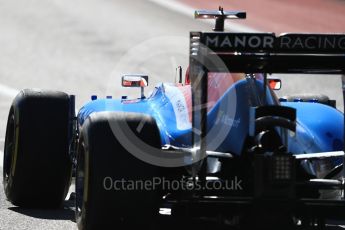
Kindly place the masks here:
[(11, 170), (12, 170), (12, 162), (14, 157), (14, 146), (15, 146), (15, 121), (14, 121), (14, 114), (11, 113), (9, 116), (7, 130), (6, 130), (6, 138), (5, 138), (5, 150), (4, 150), (4, 159), (3, 159), (3, 180), (5, 189), (7, 187)]

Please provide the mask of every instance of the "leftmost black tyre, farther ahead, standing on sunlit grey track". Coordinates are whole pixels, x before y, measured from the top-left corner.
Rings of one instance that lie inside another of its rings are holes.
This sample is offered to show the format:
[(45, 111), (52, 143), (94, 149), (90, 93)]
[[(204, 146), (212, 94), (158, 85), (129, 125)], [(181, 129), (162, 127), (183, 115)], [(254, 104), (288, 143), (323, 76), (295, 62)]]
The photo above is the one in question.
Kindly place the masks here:
[(3, 183), (7, 199), (22, 207), (59, 207), (71, 178), (69, 96), (22, 90), (7, 123)]

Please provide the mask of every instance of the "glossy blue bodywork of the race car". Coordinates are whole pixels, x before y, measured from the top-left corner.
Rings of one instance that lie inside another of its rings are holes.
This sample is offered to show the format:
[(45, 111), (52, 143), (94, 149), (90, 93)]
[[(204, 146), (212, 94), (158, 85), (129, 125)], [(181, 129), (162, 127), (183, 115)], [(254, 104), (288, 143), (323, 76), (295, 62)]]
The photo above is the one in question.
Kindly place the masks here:
[[(177, 91), (178, 86), (160, 84), (150, 97), (144, 99), (98, 99), (91, 101), (80, 109), (79, 124), (82, 125), (90, 114), (101, 111), (148, 114), (154, 117), (157, 122), (162, 145), (190, 147), (192, 136), (190, 117), (176, 114), (174, 103), (180, 101), (176, 98), (182, 98), (181, 100), (183, 100), (183, 97), (179, 96), (178, 92), (171, 94), (174, 90)], [(265, 104), (280, 104), (274, 93), (269, 89), (267, 89), (266, 99), (263, 100), (259, 96), (262, 91), (262, 82), (244, 79), (236, 82), (224, 92), (208, 112), (208, 129), (210, 131), (214, 126), (224, 127), (230, 123), (231, 129), (225, 137), (222, 137), (221, 142), (216, 145), (209, 145), (211, 150), (241, 155), (248, 137), (249, 108)], [(175, 96), (171, 97), (171, 95)], [(231, 108), (231, 111), (233, 109), (236, 111), (232, 117), (220, 119), (222, 118), (220, 114), (224, 113), (224, 104), (235, 105)], [(291, 153), (303, 154), (342, 150), (344, 119), (340, 111), (327, 105), (312, 102), (282, 102), (281, 105), (293, 107), (297, 110), (296, 135), (288, 135), (288, 149)], [(182, 108), (186, 110), (185, 107)], [(212, 142), (211, 139), (207, 139), (208, 143)]]

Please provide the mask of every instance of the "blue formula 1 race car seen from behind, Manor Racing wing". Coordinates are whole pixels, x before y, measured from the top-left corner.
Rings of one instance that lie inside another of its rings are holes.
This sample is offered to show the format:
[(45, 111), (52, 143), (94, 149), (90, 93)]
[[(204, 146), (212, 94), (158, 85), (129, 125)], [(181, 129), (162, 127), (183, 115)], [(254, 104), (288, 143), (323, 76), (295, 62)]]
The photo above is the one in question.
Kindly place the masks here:
[(216, 26), (190, 33), (185, 84), (181, 75), (145, 97), (148, 76), (124, 75), (140, 98), (93, 97), (77, 115), (73, 95), (22, 90), (7, 123), (8, 200), (59, 207), (75, 174), (79, 229), (148, 229), (161, 217), (244, 228), (344, 220), (344, 114), (327, 97), (273, 89), (274, 74), (343, 75), (345, 34), (229, 33), (225, 19), (244, 12), (195, 16)]

